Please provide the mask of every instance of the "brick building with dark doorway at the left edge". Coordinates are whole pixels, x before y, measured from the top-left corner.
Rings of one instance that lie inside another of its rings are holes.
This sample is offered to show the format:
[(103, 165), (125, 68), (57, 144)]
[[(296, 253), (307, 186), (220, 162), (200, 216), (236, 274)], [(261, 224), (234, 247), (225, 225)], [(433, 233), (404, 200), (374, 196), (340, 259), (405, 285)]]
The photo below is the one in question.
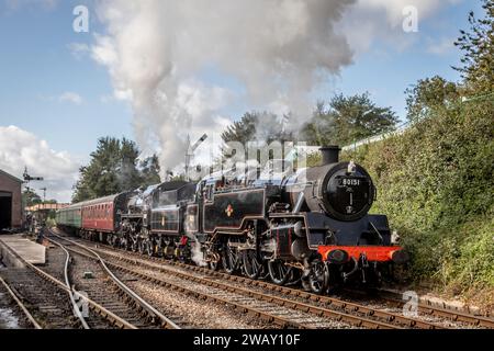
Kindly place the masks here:
[(22, 226), (22, 180), (0, 169), (0, 231)]

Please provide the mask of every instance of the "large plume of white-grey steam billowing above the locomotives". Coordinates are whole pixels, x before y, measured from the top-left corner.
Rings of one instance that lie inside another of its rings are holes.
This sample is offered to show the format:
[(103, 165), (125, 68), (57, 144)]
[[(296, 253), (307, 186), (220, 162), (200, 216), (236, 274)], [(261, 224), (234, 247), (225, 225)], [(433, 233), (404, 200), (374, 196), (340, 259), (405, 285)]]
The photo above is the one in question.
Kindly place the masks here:
[[(311, 92), (351, 63), (335, 24), (353, 2), (101, 0), (106, 33), (96, 36), (92, 56), (108, 67), (115, 98), (131, 101), (139, 145), (158, 145), (161, 166), (172, 169), (187, 134), (217, 132), (235, 99), (249, 110), (290, 111), (299, 127)], [(242, 97), (204, 78), (209, 69), (238, 82)]]

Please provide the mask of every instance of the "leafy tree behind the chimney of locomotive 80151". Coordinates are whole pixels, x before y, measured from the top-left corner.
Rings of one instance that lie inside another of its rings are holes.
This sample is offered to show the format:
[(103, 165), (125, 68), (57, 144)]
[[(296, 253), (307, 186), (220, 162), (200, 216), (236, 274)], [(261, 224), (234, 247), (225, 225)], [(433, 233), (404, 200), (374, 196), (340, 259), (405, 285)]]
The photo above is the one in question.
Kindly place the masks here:
[(369, 93), (335, 95), (327, 109), (319, 102), (301, 138), (313, 145), (347, 145), (380, 133), (390, 132), (397, 123), (391, 107), (379, 107)]

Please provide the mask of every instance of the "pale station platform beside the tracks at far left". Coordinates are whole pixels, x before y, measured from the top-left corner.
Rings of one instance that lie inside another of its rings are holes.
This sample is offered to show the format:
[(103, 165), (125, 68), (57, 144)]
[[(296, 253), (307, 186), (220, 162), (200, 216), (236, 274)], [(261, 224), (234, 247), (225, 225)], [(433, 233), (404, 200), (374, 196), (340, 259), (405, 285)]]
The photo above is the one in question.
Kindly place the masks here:
[(46, 248), (22, 235), (0, 235), (0, 249), (2, 249), (2, 256), (5, 256), (8, 253), (3, 252), (2, 246), (18, 253), (29, 263), (45, 264), (46, 262)]

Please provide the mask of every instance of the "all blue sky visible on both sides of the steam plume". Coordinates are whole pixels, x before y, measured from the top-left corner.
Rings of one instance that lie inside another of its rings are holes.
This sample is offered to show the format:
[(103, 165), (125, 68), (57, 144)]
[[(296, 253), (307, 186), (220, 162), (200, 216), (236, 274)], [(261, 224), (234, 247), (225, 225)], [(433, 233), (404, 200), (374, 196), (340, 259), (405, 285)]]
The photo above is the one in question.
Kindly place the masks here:
[[(90, 33), (72, 31), (72, 9), (77, 4), (86, 4), (90, 10)], [(459, 63), (460, 53), (448, 43), (460, 29), (468, 27), (470, 10), (481, 13), (480, 1), (441, 1), (424, 19), (419, 18), (419, 31), (409, 34), (400, 26), (382, 24), (385, 14), (378, 10), (369, 14), (373, 32), (366, 33), (362, 27), (361, 36), (357, 35), (366, 43), (355, 41), (352, 64), (344, 67), (326, 89), (318, 89), (317, 98), (369, 91), (379, 105), (391, 106), (404, 117), (407, 87), (434, 75), (459, 79), (450, 66)], [(352, 30), (358, 34), (358, 27)], [(66, 151), (70, 165), (60, 167), (68, 173), (71, 170), (70, 181), (74, 169), (88, 160), (99, 137), (135, 137), (133, 109), (128, 101), (112, 98), (114, 81), (108, 67), (88, 53), (74, 52), (75, 43), (90, 47), (94, 34), (105, 31), (97, 19), (93, 1), (0, 0), (0, 127), (16, 126), (34, 135), (36, 143), (45, 140), (56, 155)], [(203, 68), (200, 77), (240, 94), (244, 90), (239, 80), (212, 67)], [(250, 106), (246, 101), (237, 101), (221, 110), (226, 117), (237, 120)], [(2, 137), (5, 139), (5, 134), (0, 134), (0, 141)], [(20, 176), (23, 166), (13, 165), (13, 159), (36, 167), (22, 155), (3, 155), (0, 168)], [(54, 190), (54, 196), (67, 200), (67, 184)]]

